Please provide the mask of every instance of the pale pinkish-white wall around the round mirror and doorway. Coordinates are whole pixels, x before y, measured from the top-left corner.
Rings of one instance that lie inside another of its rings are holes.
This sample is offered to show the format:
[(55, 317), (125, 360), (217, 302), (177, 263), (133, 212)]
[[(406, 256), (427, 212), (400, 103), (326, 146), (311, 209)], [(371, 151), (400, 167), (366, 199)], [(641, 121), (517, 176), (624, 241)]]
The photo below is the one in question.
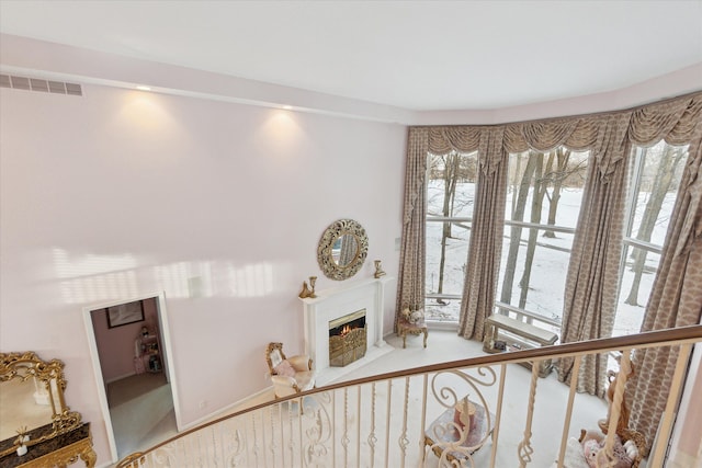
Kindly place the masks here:
[(100, 465), (82, 309), (165, 292), (182, 424), (264, 389), (265, 345), (302, 351), (302, 282), (335, 283), (316, 260), (327, 225), (365, 227), (360, 277), (372, 259), (397, 274), (406, 128), (83, 92), (0, 90), (0, 345), (66, 363), (67, 402), (92, 423)]

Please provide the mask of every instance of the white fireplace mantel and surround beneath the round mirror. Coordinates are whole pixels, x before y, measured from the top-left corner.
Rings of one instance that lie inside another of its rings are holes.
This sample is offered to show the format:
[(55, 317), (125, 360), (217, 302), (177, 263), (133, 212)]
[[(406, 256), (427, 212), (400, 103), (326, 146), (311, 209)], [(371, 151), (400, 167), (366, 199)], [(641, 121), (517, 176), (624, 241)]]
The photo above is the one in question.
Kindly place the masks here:
[[(392, 351), (383, 340), (385, 285), (394, 277), (381, 276), (315, 292), (317, 297), (301, 299), (305, 319), (305, 354), (313, 359), (317, 386), (339, 378)], [(329, 366), (329, 322), (365, 309), (367, 347), (365, 356), (344, 367)]]

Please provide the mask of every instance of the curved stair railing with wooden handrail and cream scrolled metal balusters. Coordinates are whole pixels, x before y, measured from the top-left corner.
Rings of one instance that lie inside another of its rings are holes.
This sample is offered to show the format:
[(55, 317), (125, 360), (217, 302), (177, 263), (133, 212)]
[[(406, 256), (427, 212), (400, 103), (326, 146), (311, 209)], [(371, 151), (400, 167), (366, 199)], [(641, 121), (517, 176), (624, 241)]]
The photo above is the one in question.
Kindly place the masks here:
[[(568, 438), (579, 434), (580, 427), (571, 425), (576, 398), (582, 397), (576, 396), (575, 381), (566, 387), (555, 378), (539, 378), (537, 364), (575, 357), (577, 375), (582, 356), (622, 351), (622, 378), (614, 385), (604, 443), (604, 455), (612, 460), (631, 353), (679, 345), (668, 408), (648, 465), (658, 467), (663, 466), (684, 363), (700, 341), (702, 326), (687, 327), (490, 354), (330, 385), (186, 431), (118, 466), (562, 467)], [(531, 374), (511, 365), (516, 363), (531, 363)], [(546, 391), (542, 388), (548, 385), (564, 390), (558, 392), (563, 401), (555, 401), (552, 390), (540, 398), (539, 391)], [(607, 406), (601, 408), (607, 411)], [(589, 426), (597, 427), (598, 419), (605, 414), (589, 414)], [(547, 419), (555, 429), (557, 435), (548, 443), (537, 437), (535, 419), (541, 419), (541, 427)]]

